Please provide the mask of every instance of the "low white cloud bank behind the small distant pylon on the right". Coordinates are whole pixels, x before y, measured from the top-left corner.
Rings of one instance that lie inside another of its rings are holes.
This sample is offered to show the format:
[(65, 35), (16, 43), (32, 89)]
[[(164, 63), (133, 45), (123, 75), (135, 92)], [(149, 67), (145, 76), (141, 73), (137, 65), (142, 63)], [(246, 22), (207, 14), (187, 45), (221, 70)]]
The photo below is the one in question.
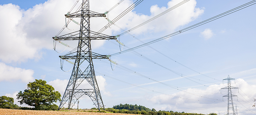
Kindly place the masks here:
[[(222, 99), (222, 96), (227, 95), (228, 92), (225, 89), (220, 90), (226, 86), (227, 83), (210, 85), (205, 90), (189, 88), (173, 95), (156, 95), (149, 100), (154, 104), (165, 105), (164, 108), (159, 108), (164, 110), (182, 111), (178, 109), (182, 108), (187, 110), (186, 112), (200, 111), (205, 112), (205, 114), (209, 114), (209, 112), (226, 114), (227, 111), (223, 108), (227, 108), (227, 99), (225, 97)], [(249, 85), (243, 79), (237, 79), (236, 82), (231, 82), (231, 86), (239, 87), (239, 92), (237, 89), (232, 89), (232, 94), (238, 96), (238, 100), (236, 100), (236, 97), (233, 98), (234, 104), (253, 109), (252, 104), (254, 104), (253, 98), (256, 97), (256, 85)], [(212, 111), (209, 111), (209, 108), (212, 108)], [(248, 110), (241, 110), (241, 112), (247, 113)]]

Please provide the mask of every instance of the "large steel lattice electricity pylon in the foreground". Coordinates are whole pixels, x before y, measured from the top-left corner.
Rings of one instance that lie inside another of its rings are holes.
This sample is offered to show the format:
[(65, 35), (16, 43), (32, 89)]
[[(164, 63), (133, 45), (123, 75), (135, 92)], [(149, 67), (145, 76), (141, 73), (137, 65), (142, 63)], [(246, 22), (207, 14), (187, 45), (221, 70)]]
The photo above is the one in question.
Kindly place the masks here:
[[(91, 50), (91, 40), (116, 39), (116, 36), (108, 36), (90, 30), (91, 17), (105, 17), (105, 14), (90, 11), (89, 0), (83, 0), (81, 10), (65, 14), (66, 18), (81, 18), (80, 30), (62, 36), (52, 37), (54, 40), (78, 40), (77, 51), (59, 56), (63, 60), (75, 59), (72, 75), (67, 88), (62, 97), (59, 109), (68, 101), (68, 109), (72, 108), (77, 100), (88, 95), (98, 110), (105, 110), (101, 99), (100, 90), (96, 81), (92, 59), (109, 59), (108, 55), (93, 53)], [(86, 65), (83, 69), (81, 64)], [(86, 80), (86, 81), (84, 81)], [(82, 82), (88, 82), (91, 86), (78, 87)]]

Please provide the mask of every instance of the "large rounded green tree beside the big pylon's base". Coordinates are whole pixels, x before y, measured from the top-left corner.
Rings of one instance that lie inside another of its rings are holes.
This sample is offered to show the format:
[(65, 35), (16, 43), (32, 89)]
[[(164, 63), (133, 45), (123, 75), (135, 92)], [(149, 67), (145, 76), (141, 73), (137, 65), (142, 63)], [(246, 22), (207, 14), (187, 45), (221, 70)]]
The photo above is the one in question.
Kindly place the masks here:
[(53, 102), (61, 101), (60, 96), (60, 93), (54, 91), (54, 87), (46, 84), (45, 80), (36, 79), (34, 82), (29, 82), (24, 92), (19, 91), (17, 99), (21, 99), (18, 101), (20, 104), (34, 106), (35, 110), (49, 110), (47, 107), (55, 106)]

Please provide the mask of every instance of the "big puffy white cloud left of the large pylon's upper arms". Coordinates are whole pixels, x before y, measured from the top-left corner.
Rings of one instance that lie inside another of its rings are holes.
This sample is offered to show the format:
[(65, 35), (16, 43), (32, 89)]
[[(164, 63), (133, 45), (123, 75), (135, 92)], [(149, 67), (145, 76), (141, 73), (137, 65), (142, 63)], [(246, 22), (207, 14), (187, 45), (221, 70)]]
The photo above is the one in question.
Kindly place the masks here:
[(4, 62), (23, 62), (40, 58), (42, 48), (52, 47), (51, 36), (62, 24), (60, 14), (70, 4), (73, 2), (49, 0), (26, 11), (13, 4), (0, 5), (0, 31), (3, 32), (0, 59)]

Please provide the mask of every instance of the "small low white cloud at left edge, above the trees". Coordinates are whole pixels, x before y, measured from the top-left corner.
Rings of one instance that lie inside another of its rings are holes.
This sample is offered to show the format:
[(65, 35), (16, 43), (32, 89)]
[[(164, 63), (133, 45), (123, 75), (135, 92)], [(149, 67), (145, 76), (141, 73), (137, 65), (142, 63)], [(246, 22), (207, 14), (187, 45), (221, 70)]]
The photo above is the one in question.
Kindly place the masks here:
[(29, 82), (35, 80), (34, 71), (12, 67), (0, 62), (0, 81), (17, 81)]

